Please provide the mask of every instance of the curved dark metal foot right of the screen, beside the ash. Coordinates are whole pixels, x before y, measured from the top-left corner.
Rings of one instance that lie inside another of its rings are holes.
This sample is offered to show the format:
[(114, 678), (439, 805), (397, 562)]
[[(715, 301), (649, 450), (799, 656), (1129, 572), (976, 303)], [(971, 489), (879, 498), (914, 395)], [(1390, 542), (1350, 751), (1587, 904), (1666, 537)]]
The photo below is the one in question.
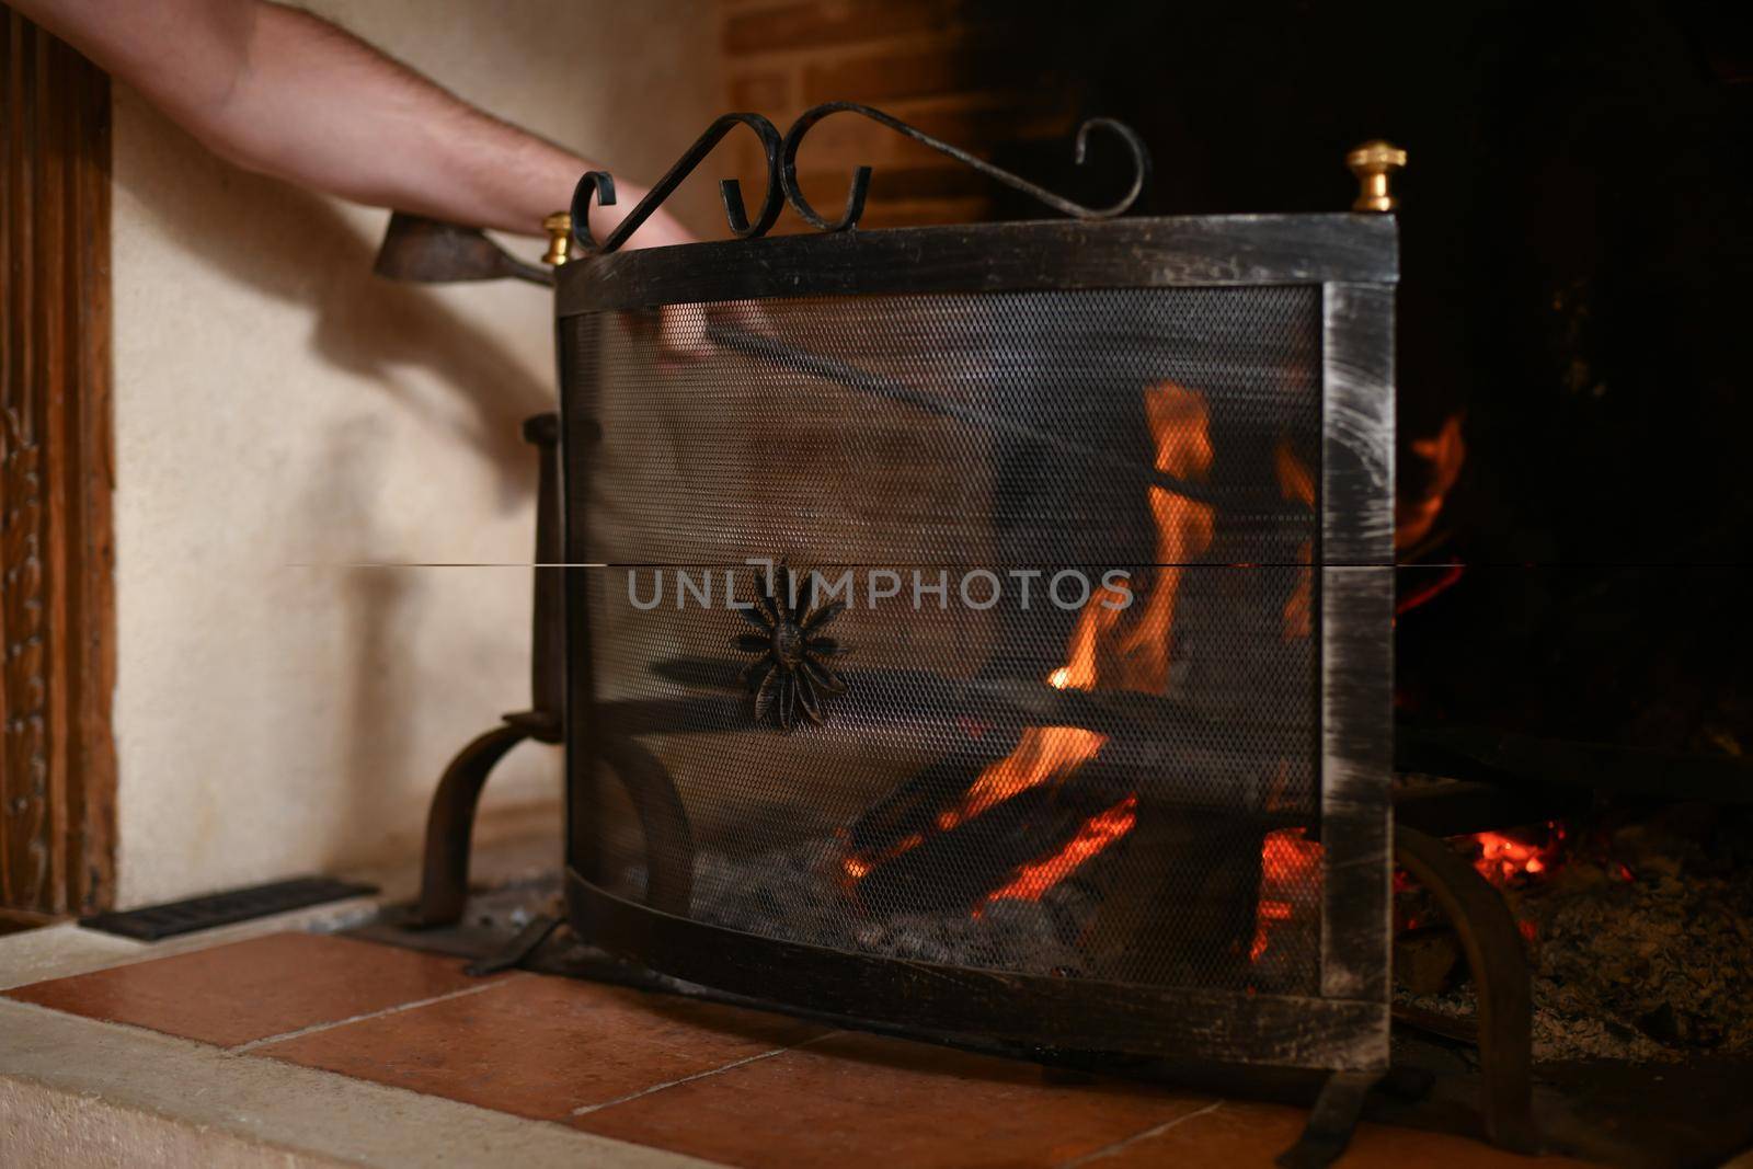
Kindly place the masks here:
[(1532, 1153), (1539, 1148), (1532, 1113), (1534, 995), (1516, 920), (1502, 896), (1436, 836), (1397, 825), (1394, 861), (1443, 906), (1473, 969), (1485, 1136), (1492, 1144)]

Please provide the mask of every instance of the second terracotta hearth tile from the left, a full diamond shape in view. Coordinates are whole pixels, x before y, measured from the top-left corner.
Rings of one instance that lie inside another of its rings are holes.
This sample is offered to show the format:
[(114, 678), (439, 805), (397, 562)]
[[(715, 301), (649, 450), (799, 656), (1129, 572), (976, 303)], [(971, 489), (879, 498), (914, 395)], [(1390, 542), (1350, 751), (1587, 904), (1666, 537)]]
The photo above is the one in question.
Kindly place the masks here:
[(784, 1015), (571, 978), (368, 1018), (254, 1053), (538, 1120), (822, 1034)]

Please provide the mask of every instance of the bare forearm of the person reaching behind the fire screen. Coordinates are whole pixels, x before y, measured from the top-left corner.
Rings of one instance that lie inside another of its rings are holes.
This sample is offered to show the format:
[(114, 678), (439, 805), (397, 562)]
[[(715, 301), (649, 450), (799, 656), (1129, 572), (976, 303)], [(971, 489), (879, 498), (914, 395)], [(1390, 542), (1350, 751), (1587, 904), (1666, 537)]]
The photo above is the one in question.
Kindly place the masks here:
[[(538, 235), (593, 163), (314, 16), (258, 0), (23, 0), (223, 158), (375, 207)], [(603, 235), (643, 196), (593, 210)], [(640, 244), (687, 238), (654, 216)]]

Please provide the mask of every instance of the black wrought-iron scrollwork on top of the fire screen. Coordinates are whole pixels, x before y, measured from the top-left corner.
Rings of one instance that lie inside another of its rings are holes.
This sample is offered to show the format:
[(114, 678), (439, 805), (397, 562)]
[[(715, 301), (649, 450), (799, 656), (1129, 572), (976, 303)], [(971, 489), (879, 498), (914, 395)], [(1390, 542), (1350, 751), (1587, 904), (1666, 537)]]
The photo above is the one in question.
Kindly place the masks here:
[(640, 224), (643, 224), (650, 214), (657, 210), (659, 203), (670, 198), (670, 193), (694, 172), (701, 159), (712, 152), (724, 135), (738, 124), (749, 126), (761, 137), (761, 145), (766, 152), (768, 189), (761, 202), (761, 212), (754, 217), (754, 221), (750, 221), (743, 205), (742, 188), (736, 179), (722, 179), (719, 182), (719, 193), (724, 198), (724, 216), (736, 238), (747, 240), (766, 235), (778, 219), (782, 200), (791, 203), (792, 210), (796, 210), (799, 217), (822, 231), (845, 231), (848, 228), (855, 228), (859, 219), (864, 216), (864, 200), (869, 195), (869, 166), (859, 166), (852, 174), (852, 186), (847, 191), (847, 209), (840, 219), (822, 217), (815, 207), (810, 205), (810, 200), (803, 196), (803, 189), (798, 186), (798, 147), (803, 144), (810, 126), (824, 117), (829, 117), (831, 114), (861, 114), (869, 117), (871, 121), (889, 126), (913, 142), (929, 145), (940, 154), (947, 154), (948, 158), (978, 170), (985, 177), (1001, 182), (1013, 191), (1022, 191), (1038, 203), (1052, 207), (1062, 216), (1069, 216), (1073, 219), (1113, 219), (1115, 216), (1124, 214), (1134, 202), (1138, 202), (1138, 196), (1145, 189), (1145, 182), (1150, 179), (1150, 151), (1145, 149), (1143, 138), (1139, 138), (1131, 126), (1125, 126), (1111, 117), (1090, 117), (1078, 126), (1075, 140), (1076, 152), (1073, 158), (1082, 166), (1089, 158), (1090, 133), (1097, 130), (1106, 131), (1118, 138), (1131, 156), (1132, 182), (1113, 203), (1108, 203), (1106, 207), (1087, 207), (1062, 195), (1055, 195), (1043, 186), (1029, 182), (1027, 179), (1001, 166), (994, 166), (983, 158), (976, 158), (957, 145), (943, 142), (941, 138), (933, 138), (924, 130), (910, 126), (899, 117), (885, 114), (880, 109), (861, 105), (857, 102), (824, 102), (822, 105), (815, 105), (799, 114), (798, 121), (794, 121), (791, 130), (785, 131), (784, 140), (773, 123), (761, 114), (726, 114), (719, 117), (703, 135), (699, 135), (699, 138), (694, 140), (694, 145), (691, 145), (687, 152), (677, 159), (675, 166), (671, 166), (668, 174), (664, 174), (664, 177), (652, 186), (645, 198), (640, 200), (638, 207), (635, 207), (603, 242), (598, 242), (596, 237), (591, 235), (591, 200), (594, 196), (600, 207), (612, 207), (615, 203), (615, 181), (603, 170), (586, 172), (584, 177), (578, 179), (578, 186), (571, 196), (573, 237), (586, 251), (596, 254), (607, 254), (619, 249), (628, 242), (628, 237), (638, 231)]

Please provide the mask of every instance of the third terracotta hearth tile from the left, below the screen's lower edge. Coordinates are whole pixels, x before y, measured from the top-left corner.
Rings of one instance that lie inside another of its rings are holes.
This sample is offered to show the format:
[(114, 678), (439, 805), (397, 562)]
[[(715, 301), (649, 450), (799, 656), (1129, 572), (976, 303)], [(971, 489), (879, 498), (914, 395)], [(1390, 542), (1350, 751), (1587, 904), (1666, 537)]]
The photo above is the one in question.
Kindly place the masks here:
[(1045, 1169), (1210, 1099), (1110, 1081), (1048, 1085), (1033, 1064), (836, 1034), (573, 1123), (731, 1165)]

